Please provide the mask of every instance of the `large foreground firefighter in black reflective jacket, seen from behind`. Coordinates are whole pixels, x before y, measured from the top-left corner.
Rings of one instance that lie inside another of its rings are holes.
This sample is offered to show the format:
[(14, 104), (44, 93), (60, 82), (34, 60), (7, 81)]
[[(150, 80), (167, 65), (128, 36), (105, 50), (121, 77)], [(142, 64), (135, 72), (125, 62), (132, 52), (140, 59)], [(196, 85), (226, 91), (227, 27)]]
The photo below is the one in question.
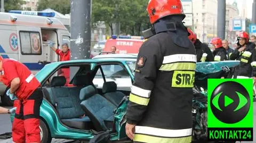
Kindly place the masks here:
[(151, 0), (147, 11), (155, 35), (138, 54), (126, 134), (134, 142), (191, 142), (196, 52), (181, 2)]

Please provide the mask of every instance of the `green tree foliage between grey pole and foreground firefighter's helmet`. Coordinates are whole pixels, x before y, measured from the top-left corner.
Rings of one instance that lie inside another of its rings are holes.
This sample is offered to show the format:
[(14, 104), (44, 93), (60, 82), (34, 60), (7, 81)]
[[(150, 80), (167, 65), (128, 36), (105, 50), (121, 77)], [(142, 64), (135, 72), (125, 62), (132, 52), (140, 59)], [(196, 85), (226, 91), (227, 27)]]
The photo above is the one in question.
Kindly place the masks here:
[(121, 23), (121, 31), (127, 35), (141, 35), (150, 26), (146, 7), (148, 0), (93, 0), (92, 22), (105, 21), (113, 34), (113, 23)]

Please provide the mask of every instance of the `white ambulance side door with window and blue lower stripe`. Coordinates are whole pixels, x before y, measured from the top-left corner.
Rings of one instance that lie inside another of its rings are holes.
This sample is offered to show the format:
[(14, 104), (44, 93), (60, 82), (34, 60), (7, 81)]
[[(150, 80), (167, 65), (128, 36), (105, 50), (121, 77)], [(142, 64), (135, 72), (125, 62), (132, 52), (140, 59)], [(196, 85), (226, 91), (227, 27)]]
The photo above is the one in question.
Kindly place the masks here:
[(25, 64), (33, 73), (41, 70), (44, 53), (42, 52), (42, 34), (39, 27), (17, 26), (19, 43), (19, 61)]

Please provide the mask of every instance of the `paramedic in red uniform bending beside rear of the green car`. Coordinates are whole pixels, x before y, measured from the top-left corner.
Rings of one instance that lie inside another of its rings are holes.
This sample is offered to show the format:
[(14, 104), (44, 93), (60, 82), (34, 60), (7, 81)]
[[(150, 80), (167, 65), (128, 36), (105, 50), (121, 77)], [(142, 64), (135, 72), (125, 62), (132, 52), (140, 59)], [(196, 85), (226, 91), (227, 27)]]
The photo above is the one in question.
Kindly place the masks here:
[(6, 95), (14, 101), (17, 107), (12, 124), (13, 142), (40, 142), (39, 110), (43, 93), (38, 87), (39, 81), (26, 65), (12, 60), (0, 61), (0, 71), (4, 85), (10, 87)]

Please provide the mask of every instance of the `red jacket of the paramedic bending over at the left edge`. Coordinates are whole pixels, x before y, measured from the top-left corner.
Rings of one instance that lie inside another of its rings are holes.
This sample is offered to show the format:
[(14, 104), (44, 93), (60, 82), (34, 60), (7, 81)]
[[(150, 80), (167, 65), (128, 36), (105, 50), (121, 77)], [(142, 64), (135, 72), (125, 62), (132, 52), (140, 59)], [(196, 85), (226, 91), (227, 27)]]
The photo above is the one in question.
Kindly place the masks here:
[(26, 65), (6, 58), (2, 60), (2, 80), (4, 85), (10, 86), (14, 78), (20, 78), (20, 86), (15, 91), (18, 99), (27, 99), (40, 86), (40, 82), (34, 77)]

